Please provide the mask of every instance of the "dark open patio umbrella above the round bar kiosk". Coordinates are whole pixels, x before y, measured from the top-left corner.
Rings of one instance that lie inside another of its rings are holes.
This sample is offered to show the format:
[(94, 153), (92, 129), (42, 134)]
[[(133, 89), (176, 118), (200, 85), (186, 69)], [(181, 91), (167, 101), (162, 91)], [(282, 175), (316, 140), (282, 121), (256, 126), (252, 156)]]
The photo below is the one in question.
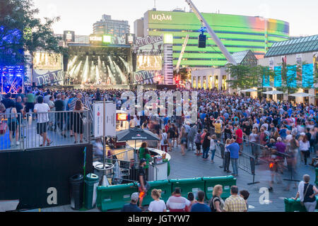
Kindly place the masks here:
[(139, 128), (127, 129), (117, 133), (117, 141), (135, 141), (135, 150), (136, 150), (136, 141), (160, 141), (158, 135), (152, 133), (148, 130), (143, 130)]

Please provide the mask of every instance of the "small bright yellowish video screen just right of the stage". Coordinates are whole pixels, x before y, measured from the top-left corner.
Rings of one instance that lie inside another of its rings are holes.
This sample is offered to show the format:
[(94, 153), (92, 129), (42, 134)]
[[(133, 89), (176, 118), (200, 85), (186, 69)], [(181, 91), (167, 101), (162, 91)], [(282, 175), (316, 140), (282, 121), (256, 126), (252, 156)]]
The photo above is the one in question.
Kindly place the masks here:
[(163, 57), (139, 55), (137, 56), (137, 71), (158, 71), (163, 69)]

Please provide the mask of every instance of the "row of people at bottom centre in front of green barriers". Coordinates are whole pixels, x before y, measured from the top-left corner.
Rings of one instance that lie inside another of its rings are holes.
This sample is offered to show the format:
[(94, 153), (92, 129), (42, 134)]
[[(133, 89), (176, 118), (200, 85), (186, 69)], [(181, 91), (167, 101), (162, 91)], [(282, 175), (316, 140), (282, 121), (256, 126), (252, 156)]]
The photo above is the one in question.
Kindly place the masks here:
[(175, 188), (172, 196), (163, 201), (161, 198), (162, 191), (160, 189), (151, 190), (151, 198), (153, 201), (148, 208), (143, 208), (143, 198), (147, 195), (150, 185), (146, 180), (146, 159), (141, 159), (139, 164), (139, 193), (131, 194), (131, 203), (123, 206), (122, 212), (246, 212), (249, 208), (247, 198), (249, 192), (247, 190), (238, 191), (237, 186), (231, 186), (231, 196), (223, 201), (223, 186), (218, 184), (213, 187), (213, 196), (206, 204), (206, 194), (204, 191), (198, 191), (196, 194), (189, 192), (187, 198), (184, 198), (179, 187)]

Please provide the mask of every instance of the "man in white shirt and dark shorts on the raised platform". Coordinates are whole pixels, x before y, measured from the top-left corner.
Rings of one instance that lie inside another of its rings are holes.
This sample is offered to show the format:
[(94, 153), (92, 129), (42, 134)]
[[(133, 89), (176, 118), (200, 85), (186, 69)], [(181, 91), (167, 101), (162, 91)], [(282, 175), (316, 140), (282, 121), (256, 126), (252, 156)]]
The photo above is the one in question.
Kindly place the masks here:
[(34, 113), (37, 113), (37, 134), (40, 134), (43, 138), (43, 143), (40, 147), (45, 146), (45, 141), (49, 146), (52, 141), (47, 137), (47, 126), (49, 122), (49, 105), (43, 103), (43, 97), (37, 97), (37, 104), (34, 106)]

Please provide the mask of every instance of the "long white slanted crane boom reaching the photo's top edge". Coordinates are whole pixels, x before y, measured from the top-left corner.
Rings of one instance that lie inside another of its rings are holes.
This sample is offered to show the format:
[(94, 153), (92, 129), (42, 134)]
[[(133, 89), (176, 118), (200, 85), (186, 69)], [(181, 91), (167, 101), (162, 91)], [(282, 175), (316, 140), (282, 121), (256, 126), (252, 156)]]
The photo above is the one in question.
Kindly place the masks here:
[(216, 45), (220, 49), (220, 51), (223, 53), (225, 58), (230, 62), (230, 64), (237, 65), (236, 61), (233, 59), (230, 52), (228, 52), (228, 49), (225, 48), (224, 44), (220, 41), (216, 33), (213, 31), (213, 29), (208, 25), (208, 22), (206, 22), (206, 19), (202, 16), (202, 14), (199, 12), (199, 10), (194, 6), (191, 0), (185, 0), (187, 4), (192, 8), (192, 11), (194, 14), (196, 14), (196, 17), (201, 21), (201, 24), (206, 27), (206, 30), (208, 31), (208, 34), (211, 35), (214, 42), (216, 42)]

